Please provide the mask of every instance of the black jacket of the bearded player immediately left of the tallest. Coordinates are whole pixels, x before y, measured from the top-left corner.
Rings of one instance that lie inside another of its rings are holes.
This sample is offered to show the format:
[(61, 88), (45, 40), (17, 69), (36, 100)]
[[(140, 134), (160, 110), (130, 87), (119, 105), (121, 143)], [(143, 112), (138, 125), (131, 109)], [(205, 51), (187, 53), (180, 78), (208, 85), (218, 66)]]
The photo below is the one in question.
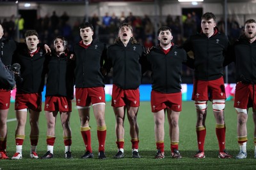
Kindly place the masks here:
[(177, 93), (181, 90), (182, 63), (186, 62), (184, 49), (173, 45), (165, 54), (158, 45), (147, 54), (152, 70), (152, 90), (162, 93)]

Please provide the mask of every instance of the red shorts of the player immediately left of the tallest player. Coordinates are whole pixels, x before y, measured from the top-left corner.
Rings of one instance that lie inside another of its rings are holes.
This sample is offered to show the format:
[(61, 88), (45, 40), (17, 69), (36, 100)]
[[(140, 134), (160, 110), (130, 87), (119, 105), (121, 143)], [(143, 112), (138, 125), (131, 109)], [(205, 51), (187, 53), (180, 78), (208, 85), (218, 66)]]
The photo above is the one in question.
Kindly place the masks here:
[(151, 111), (156, 113), (163, 109), (170, 109), (173, 111), (182, 110), (182, 93), (161, 93), (155, 90), (151, 92)]

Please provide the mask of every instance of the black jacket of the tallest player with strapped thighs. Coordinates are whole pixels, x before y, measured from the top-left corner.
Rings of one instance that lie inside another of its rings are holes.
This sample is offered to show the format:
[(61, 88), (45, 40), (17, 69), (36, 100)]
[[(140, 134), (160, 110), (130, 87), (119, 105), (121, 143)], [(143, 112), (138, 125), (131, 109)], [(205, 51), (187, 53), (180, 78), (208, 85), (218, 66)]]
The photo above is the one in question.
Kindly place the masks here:
[(210, 38), (203, 33), (198, 33), (186, 40), (183, 48), (186, 52), (194, 53), (193, 65), (196, 80), (216, 80), (223, 76), (223, 61), (227, 55), (228, 46), (227, 36), (218, 32), (217, 28)]

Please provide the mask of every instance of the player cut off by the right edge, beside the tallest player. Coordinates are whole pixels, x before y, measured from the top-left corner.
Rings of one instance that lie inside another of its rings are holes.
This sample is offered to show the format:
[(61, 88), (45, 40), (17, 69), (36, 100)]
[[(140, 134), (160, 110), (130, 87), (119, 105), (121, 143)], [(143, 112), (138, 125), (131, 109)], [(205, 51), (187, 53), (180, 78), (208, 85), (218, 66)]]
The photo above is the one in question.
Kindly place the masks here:
[(236, 66), (236, 96), (234, 108), (237, 112), (237, 142), (239, 153), (236, 159), (247, 157), (246, 144), (248, 110), (252, 108), (254, 122), (254, 157), (256, 158), (256, 21), (244, 22), (244, 34), (230, 47), (229, 58)]

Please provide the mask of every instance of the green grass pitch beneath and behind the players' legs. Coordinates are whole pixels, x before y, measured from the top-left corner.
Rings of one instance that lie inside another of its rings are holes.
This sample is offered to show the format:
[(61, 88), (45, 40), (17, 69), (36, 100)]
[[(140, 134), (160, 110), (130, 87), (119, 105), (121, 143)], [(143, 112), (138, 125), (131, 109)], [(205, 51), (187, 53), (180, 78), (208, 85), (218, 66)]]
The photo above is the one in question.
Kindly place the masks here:
[[(30, 159), (30, 141), (29, 141), (29, 119), (26, 125), (26, 139), (24, 141), (21, 160), (0, 160), (0, 169), (256, 169), (253, 144), (253, 120), (252, 110), (248, 116), (248, 157), (244, 160), (236, 159), (218, 159), (218, 141), (215, 134), (215, 120), (212, 114), (211, 103), (208, 104), (208, 113), (206, 119), (207, 135), (205, 139), (205, 159), (193, 159), (196, 153), (196, 112), (192, 101), (183, 102), (182, 112), (180, 113), (180, 141), (179, 150), (182, 159), (172, 159), (170, 156), (170, 138), (168, 135), (168, 122), (165, 122), (165, 158), (162, 160), (154, 159), (156, 155), (156, 144), (154, 139), (154, 120), (150, 110), (149, 102), (141, 102), (138, 113), (138, 124), (140, 127), (140, 145), (139, 151), (141, 159), (132, 159), (131, 157), (131, 138), (129, 136), (129, 123), (125, 119), (125, 158), (116, 160), (113, 155), (117, 148), (115, 143), (115, 115), (111, 103), (106, 103), (106, 160), (97, 159), (97, 126), (91, 110), (90, 125), (92, 127), (92, 148), (95, 155), (94, 159), (79, 159), (84, 153), (84, 143), (80, 133), (80, 120), (75, 103), (73, 103), (73, 112), (70, 118), (72, 128), (72, 155), (74, 159), (64, 159), (64, 143), (60, 117), (56, 124), (56, 142), (54, 145), (54, 159)], [(8, 114), (8, 119), (15, 118), (13, 104)], [(237, 145), (237, 115), (233, 108), (233, 101), (227, 101), (225, 108), (226, 122), (226, 148), (228, 152), (236, 157), (239, 152)], [(15, 127), (16, 121), (8, 122), (8, 156), (12, 157), (15, 153)], [(47, 125), (44, 111), (40, 113), (40, 138), (38, 142), (37, 153), (39, 156), (47, 152), (46, 131)], [(241, 167), (241, 168), (240, 168)]]

